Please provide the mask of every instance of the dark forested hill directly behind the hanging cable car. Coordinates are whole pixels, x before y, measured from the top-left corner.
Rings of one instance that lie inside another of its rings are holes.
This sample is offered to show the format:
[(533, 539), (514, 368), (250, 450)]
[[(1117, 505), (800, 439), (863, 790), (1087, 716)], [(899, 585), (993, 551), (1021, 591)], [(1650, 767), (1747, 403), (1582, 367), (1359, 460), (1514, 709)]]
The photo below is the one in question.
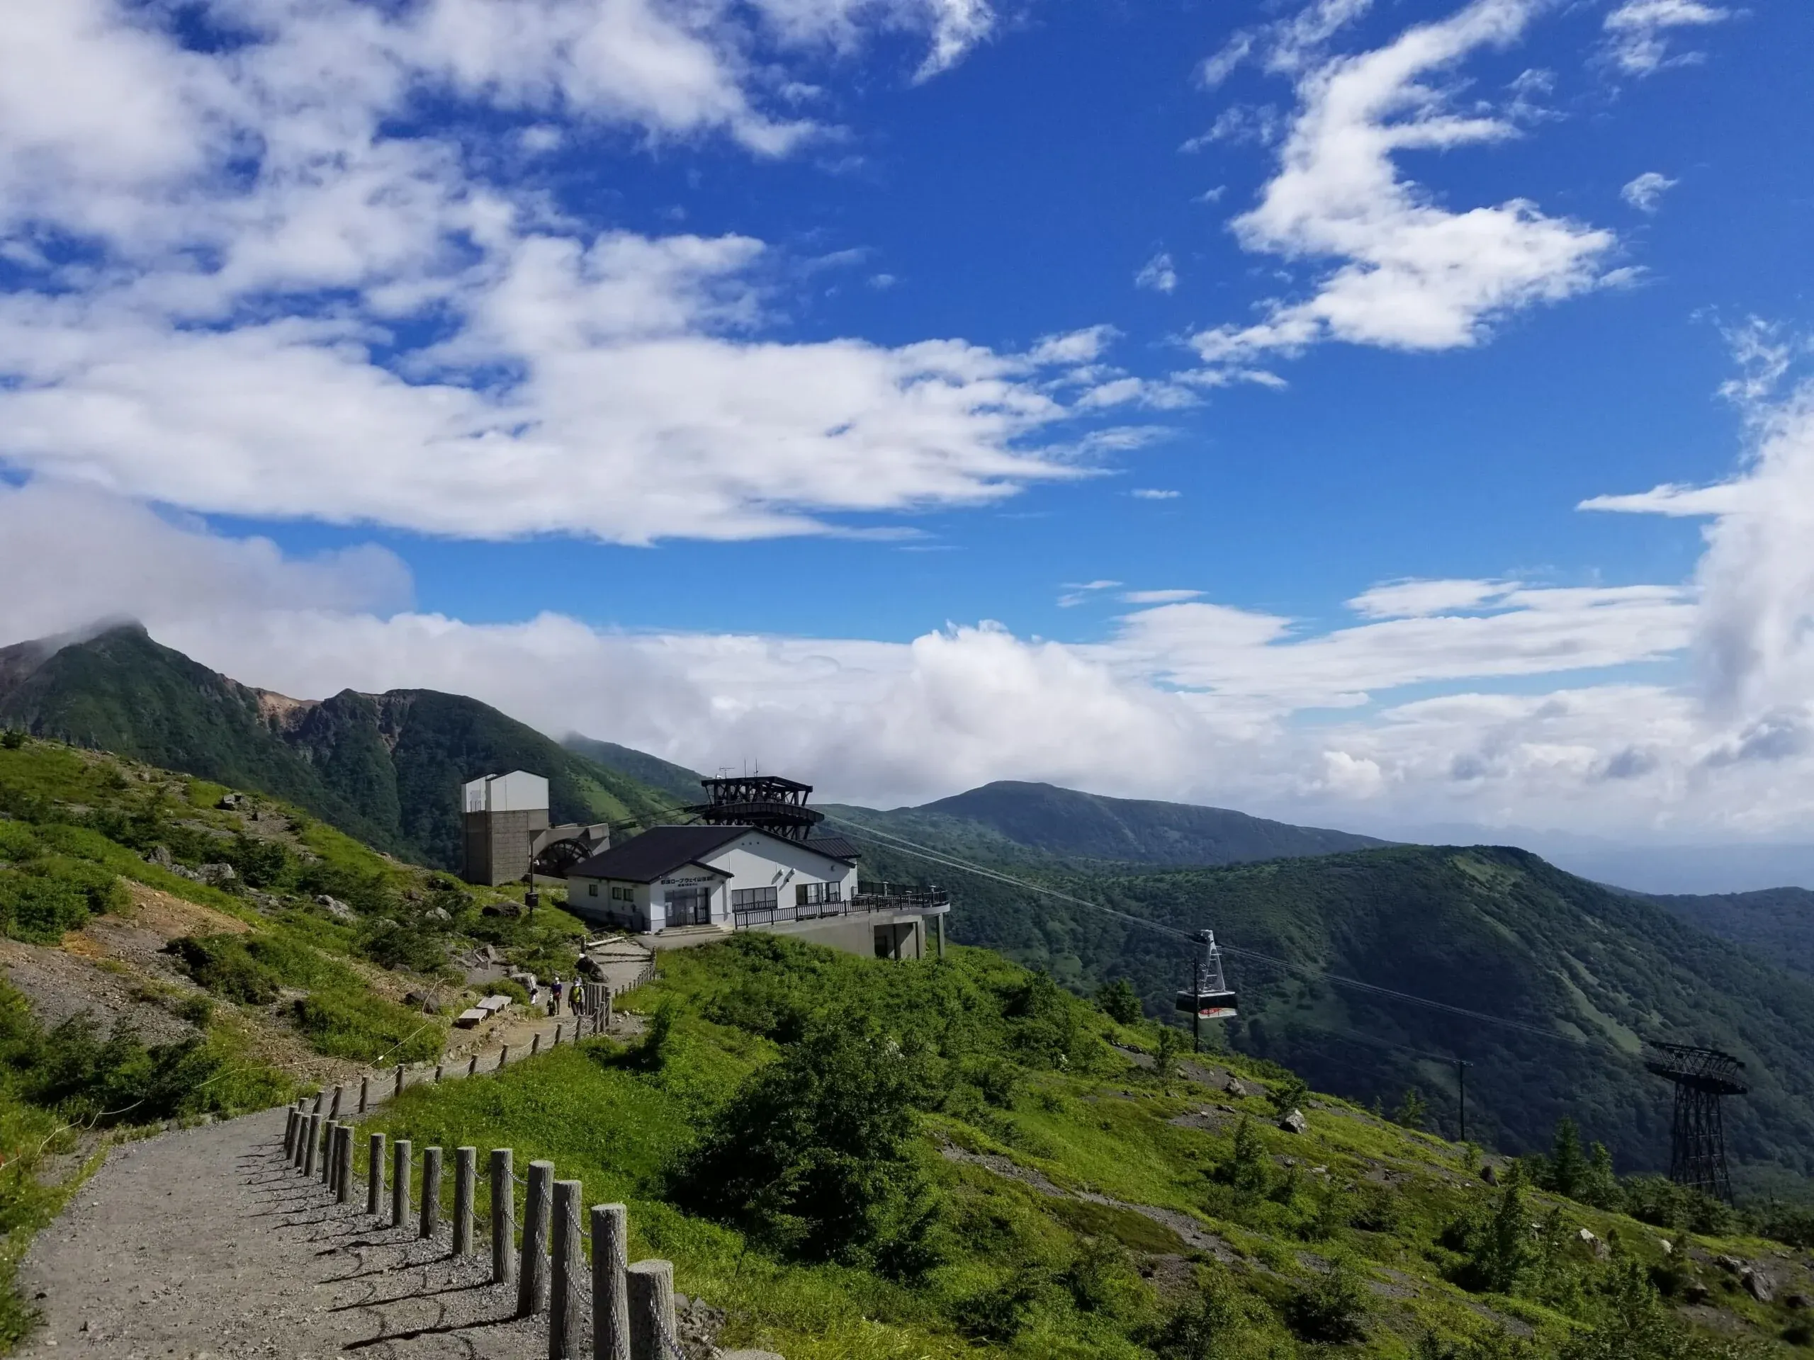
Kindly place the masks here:
[[(972, 847), (974, 849), (974, 847)], [(1451, 1059), (1466, 1057), (1469, 1128), (1507, 1148), (1542, 1146), (1573, 1112), (1625, 1168), (1667, 1162), (1669, 1088), (1638, 1061), (1642, 1039), (1741, 1054), (1754, 1092), (1729, 1137), (1754, 1182), (1810, 1170), (1814, 986), (1714, 939), (1654, 903), (1607, 892), (1509, 849), (1390, 847), (1201, 870), (1126, 872), (1010, 865), (1136, 916), (1210, 927), (1230, 947), (1304, 965), (1230, 957), (1243, 1021), (1232, 1041), (1324, 1090), (1395, 1103), (1419, 1086), (1457, 1128)], [(865, 847), (863, 876), (952, 889), (949, 928), (1088, 990), (1126, 976), (1152, 1014), (1186, 976), (1181, 941), (1067, 901)], [(1331, 972), (1515, 1019), (1507, 1032), (1331, 985)]]

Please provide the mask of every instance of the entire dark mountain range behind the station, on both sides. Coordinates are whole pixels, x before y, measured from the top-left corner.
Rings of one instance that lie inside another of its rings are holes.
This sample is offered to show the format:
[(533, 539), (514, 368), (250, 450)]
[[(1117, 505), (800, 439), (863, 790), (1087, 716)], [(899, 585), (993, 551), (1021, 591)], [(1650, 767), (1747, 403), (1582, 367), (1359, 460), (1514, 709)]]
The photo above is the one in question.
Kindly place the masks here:
[[(296, 700), (218, 675), (140, 627), (0, 649), (0, 725), (285, 798), (428, 865), (457, 861), (457, 789), (475, 774), (546, 774), (557, 820), (651, 825), (702, 798), (693, 771), (584, 736), (557, 743), (472, 698), (395, 689)], [(952, 887), (958, 941), (1083, 990), (1130, 977), (1154, 1014), (1170, 1010), (1186, 976), (1185, 941), (929, 863), (902, 841), (1179, 930), (1212, 927), (1241, 950), (1230, 954), (1241, 1019), (1228, 1037), (1326, 1090), (1393, 1101), (1417, 1084), (1453, 1128), (1448, 1057), (1466, 1057), (1477, 1064), (1471, 1132), (1531, 1148), (1573, 1113), (1624, 1166), (1654, 1168), (1669, 1101), (1638, 1063), (1640, 1044), (1712, 1043), (1749, 1063), (1752, 1093), (1731, 1128), (1752, 1184), (1770, 1164), (1778, 1175), (1814, 1170), (1814, 983), (1794, 972), (1814, 972), (1814, 892), (1651, 899), (1515, 849), (1390, 845), (1043, 783), (824, 811), (829, 829), (865, 841), (863, 878)]]

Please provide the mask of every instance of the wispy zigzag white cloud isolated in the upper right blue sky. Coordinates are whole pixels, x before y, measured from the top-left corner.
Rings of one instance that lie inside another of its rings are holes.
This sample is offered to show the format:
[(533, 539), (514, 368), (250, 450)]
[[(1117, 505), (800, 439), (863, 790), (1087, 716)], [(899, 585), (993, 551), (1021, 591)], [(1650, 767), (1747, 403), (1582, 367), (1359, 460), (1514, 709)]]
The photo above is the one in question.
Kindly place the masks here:
[(1402, 151), (1517, 136), (1509, 118), (1453, 111), (1428, 78), (1480, 47), (1515, 42), (1536, 7), (1475, 0), (1357, 56), (1293, 49), (1292, 60), (1308, 65), (1279, 174), (1234, 228), (1248, 250), (1335, 267), (1304, 301), (1273, 301), (1253, 325), (1194, 335), (1212, 381), (1252, 375), (1268, 355), (1331, 339), (1400, 350), (1475, 345), (1497, 317), (1602, 281), (1611, 232), (1549, 218), (1526, 199), (1449, 210), (1395, 163)]

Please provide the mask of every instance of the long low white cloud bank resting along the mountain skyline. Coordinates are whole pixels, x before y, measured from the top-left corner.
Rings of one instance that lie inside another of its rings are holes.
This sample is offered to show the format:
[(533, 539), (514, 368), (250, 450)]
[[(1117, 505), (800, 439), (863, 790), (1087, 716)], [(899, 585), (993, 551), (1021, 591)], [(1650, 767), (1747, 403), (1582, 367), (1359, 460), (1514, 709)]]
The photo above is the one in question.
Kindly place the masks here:
[[(1783, 439), (1805, 437), (1794, 424), (1785, 410)], [(1751, 466), (1781, 491), (1805, 486), (1776, 437)], [(299, 560), (36, 482), (0, 490), (0, 578), (16, 586), (0, 593), (0, 640), (134, 615), (301, 698), (441, 687), (551, 734), (697, 769), (762, 760), (871, 803), (1029, 778), (1388, 831), (1767, 836), (1814, 816), (1814, 535), (1796, 533), (1809, 497), (1798, 504), (1761, 537), (1732, 520), (1692, 589), (1393, 582), (1357, 595), (1355, 622), (1337, 627), (1199, 598), (1136, 602), (1094, 644), (987, 622), (882, 642), (624, 633), (561, 615), (468, 624), (410, 609), (408, 573), (381, 549)], [(1703, 649), (1745, 669), (1729, 700), (1633, 671)]]

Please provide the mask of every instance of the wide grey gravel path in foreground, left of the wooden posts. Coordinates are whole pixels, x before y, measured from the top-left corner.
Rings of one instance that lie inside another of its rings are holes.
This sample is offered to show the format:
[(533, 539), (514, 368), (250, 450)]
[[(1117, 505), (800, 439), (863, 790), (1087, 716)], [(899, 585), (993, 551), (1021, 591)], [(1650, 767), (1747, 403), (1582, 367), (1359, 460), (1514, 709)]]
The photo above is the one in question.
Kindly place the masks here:
[[(530, 1360), (546, 1316), (513, 1320), (490, 1257), (454, 1260), (334, 1204), (283, 1157), (283, 1110), (116, 1150), (20, 1268), (45, 1326), (24, 1356)], [(590, 1342), (590, 1316), (580, 1335)]]

